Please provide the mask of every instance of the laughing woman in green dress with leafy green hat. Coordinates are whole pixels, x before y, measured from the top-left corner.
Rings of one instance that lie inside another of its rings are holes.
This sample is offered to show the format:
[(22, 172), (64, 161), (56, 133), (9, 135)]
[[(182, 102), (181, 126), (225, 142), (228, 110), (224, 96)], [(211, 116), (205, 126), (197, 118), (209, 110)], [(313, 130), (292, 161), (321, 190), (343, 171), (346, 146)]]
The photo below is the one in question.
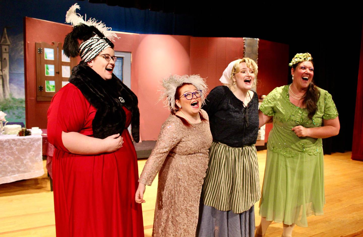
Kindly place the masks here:
[(267, 144), (261, 224), (264, 236), (272, 221), (283, 223), (282, 236), (295, 225), (307, 226), (306, 217), (323, 214), (324, 163), (322, 138), (339, 133), (338, 111), (331, 95), (313, 83), (309, 53), (298, 53), (289, 66), (293, 82), (276, 87), (260, 106), (260, 127), (273, 117)]

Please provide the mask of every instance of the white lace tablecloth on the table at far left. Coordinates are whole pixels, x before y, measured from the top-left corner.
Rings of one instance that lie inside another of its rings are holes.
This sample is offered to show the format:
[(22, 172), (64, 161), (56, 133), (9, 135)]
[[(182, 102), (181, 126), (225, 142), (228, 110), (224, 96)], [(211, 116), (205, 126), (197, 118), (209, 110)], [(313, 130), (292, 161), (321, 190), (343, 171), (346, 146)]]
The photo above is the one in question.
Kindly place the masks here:
[(41, 135), (0, 135), (0, 184), (42, 175)]

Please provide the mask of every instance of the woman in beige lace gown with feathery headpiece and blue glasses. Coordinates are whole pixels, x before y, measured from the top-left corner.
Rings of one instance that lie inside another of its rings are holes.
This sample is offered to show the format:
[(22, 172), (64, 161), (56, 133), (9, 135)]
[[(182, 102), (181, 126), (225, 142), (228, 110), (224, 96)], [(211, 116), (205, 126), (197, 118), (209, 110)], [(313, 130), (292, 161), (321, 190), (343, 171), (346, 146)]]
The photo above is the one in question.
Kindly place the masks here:
[(212, 143), (208, 115), (200, 109), (207, 85), (195, 75), (174, 75), (162, 84), (171, 115), (140, 175), (135, 201), (145, 202), (145, 185), (151, 185), (159, 172), (152, 236), (195, 237)]

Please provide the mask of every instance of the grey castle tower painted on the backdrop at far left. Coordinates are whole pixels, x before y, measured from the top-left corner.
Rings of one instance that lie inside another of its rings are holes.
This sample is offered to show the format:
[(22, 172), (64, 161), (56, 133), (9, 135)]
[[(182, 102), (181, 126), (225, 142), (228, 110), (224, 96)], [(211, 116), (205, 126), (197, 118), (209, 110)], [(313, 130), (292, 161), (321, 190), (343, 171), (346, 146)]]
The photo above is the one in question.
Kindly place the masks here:
[(1, 36), (1, 61), (0, 61), (0, 100), (10, 98), (9, 88), (9, 45), (10, 41), (6, 28), (4, 28), (3, 36)]

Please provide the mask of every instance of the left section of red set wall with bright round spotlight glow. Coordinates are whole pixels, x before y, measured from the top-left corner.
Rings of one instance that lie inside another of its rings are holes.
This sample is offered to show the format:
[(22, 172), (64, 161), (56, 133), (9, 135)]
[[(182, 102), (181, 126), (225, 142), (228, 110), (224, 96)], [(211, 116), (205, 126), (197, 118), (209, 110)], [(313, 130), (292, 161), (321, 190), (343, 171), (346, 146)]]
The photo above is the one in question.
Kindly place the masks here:
[[(50, 102), (36, 100), (35, 42), (63, 42), (70, 25), (25, 17), (25, 118), (27, 127), (46, 128)], [(169, 112), (158, 102), (159, 82), (170, 74), (189, 74), (190, 36), (118, 33), (115, 50), (132, 53), (131, 90), (138, 96), (140, 136), (156, 140)]]

